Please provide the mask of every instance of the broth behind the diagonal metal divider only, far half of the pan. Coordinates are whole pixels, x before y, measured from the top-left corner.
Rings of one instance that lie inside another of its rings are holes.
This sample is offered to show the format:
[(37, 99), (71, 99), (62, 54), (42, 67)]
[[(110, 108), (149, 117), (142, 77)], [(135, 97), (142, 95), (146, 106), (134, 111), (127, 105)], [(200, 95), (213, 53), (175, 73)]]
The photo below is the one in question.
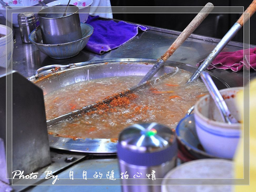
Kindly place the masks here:
[(83, 81), (46, 94), (46, 118), (55, 118), (126, 90), (138, 84), (140, 78), (110, 77)]

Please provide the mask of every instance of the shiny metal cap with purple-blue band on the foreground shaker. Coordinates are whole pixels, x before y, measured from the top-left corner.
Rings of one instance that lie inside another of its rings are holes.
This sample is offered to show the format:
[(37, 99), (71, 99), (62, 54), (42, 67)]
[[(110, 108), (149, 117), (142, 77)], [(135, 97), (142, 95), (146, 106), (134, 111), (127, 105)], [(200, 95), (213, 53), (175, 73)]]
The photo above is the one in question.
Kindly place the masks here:
[(134, 124), (120, 133), (117, 152), (130, 164), (161, 164), (177, 155), (176, 132), (157, 123)]

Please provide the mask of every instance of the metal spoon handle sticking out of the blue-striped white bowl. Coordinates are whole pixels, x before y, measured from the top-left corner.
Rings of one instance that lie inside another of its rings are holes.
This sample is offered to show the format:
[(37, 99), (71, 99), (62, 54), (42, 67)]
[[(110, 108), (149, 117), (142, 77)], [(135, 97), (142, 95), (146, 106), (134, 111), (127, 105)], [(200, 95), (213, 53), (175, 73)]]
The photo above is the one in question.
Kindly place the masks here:
[(210, 95), (212, 96), (212, 99), (214, 100), (216, 106), (218, 107), (218, 110), (220, 111), (223, 121), (227, 122), (228, 124), (238, 123), (236, 118), (234, 118), (234, 116), (228, 110), (228, 106), (224, 101), (223, 97), (221, 96), (218, 88), (214, 84), (211, 76), (207, 72), (202, 71), (200, 73), (200, 77), (202, 78), (204, 84), (206, 85), (208, 91), (210, 92)]

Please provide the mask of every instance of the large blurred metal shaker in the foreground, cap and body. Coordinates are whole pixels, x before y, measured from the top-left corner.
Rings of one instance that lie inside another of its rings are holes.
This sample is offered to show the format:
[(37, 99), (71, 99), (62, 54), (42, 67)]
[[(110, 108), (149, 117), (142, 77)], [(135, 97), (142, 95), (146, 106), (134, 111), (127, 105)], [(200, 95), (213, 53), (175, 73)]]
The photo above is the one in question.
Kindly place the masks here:
[(167, 172), (176, 166), (176, 132), (157, 123), (134, 124), (118, 139), (122, 191), (161, 191)]

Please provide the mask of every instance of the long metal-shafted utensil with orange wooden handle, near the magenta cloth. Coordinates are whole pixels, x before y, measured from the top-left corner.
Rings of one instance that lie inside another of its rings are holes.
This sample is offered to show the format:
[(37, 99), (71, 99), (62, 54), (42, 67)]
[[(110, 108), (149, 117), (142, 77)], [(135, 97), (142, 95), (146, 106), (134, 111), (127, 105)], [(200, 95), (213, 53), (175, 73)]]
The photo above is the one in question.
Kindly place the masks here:
[(204, 62), (202, 62), (202, 64), (198, 67), (196, 72), (194, 72), (194, 74), (192, 74), (192, 76), (188, 80), (188, 83), (196, 80), (200, 76), (200, 73), (207, 69), (207, 67), (212, 63), (212, 61), (216, 58), (216, 56), (218, 56), (218, 54), (228, 44), (228, 42), (230, 42), (230, 40), (232, 40), (232, 38), (242, 28), (244, 23), (255, 13), (255, 11), (256, 11), (256, 0), (253, 0), (253, 2), (250, 4), (250, 6), (244, 11), (242, 16), (230, 28), (230, 30), (225, 34), (225, 36), (222, 38), (222, 40), (220, 40), (220, 42), (216, 45), (216, 47), (212, 50), (212, 52), (207, 56), (207, 58), (204, 60)]

